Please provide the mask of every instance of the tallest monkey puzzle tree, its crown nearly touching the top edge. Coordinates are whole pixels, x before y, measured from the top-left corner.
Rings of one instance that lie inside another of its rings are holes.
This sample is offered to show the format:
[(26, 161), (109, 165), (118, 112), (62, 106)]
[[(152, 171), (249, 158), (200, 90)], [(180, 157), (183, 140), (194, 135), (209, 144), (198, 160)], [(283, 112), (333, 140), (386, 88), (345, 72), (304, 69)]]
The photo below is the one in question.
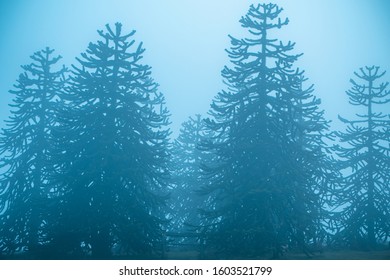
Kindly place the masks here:
[(327, 122), (303, 72), (293, 68), (294, 44), (272, 39), (288, 24), (274, 4), (251, 5), (240, 20), (253, 38), (231, 38), (233, 67), (222, 71), (228, 89), (211, 105), (203, 145), (218, 166), (206, 166), (213, 195), (202, 233), (209, 248), (224, 256), (278, 257), (289, 244), (308, 252), (323, 232)]

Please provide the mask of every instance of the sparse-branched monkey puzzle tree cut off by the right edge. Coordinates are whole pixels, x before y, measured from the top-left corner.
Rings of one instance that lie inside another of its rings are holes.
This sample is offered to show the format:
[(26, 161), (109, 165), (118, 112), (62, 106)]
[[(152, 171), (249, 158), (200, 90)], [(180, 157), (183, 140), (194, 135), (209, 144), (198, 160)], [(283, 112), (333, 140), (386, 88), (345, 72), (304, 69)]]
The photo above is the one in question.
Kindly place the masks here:
[[(385, 72), (377, 66), (360, 68), (347, 91), (349, 102), (363, 113), (355, 120), (339, 119), (347, 125), (338, 132), (336, 146), (344, 174), (337, 189), (334, 229), (343, 244), (375, 248), (390, 237), (390, 119), (379, 111), (390, 102), (388, 83), (379, 83)], [(360, 82), (359, 82), (360, 81)]]

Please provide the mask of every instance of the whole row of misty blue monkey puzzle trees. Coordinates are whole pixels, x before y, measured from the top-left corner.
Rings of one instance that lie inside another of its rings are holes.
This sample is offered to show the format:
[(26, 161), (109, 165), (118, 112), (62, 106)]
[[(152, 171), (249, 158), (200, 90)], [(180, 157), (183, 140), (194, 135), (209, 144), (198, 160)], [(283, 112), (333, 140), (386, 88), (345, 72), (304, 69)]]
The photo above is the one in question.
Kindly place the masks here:
[(355, 73), (347, 94), (360, 113), (331, 131), (301, 54), (275, 37), (281, 12), (250, 7), (248, 37), (230, 37), (226, 89), (173, 141), (134, 31), (106, 25), (70, 69), (36, 52), (0, 137), (3, 256), (158, 258), (169, 233), (218, 258), (389, 241), (385, 72)]

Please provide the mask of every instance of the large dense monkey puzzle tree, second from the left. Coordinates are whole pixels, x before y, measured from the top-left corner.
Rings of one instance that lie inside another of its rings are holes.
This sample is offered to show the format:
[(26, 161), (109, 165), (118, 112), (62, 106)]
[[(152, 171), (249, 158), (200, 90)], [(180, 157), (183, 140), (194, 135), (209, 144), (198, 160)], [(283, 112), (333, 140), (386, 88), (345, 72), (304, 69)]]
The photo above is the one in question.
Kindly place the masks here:
[(56, 130), (62, 194), (57, 254), (111, 258), (156, 253), (167, 184), (168, 112), (141, 64), (144, 49), (106, 25), (73, 66)]

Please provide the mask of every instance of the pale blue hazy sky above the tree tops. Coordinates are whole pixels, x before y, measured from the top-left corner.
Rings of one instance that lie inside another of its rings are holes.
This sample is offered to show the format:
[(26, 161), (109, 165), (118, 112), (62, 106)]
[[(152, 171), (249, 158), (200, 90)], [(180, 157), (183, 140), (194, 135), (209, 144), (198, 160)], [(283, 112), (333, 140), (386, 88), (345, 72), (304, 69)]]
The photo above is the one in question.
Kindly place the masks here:
[[(177, 132), (188, 116), (205, 114), (223, 88), (227, 35), (247, 35), (238, 21), (252, 3), (259, 1), (0, 1), (0, 126), (9, 116), (8, 90), (21, 73), (20, 65), (31, 62), (30, 55), (49, 46), (70, 65), (90, 41), (99, 39), (96, 30), (119, 21), (125, 32), (135, 29), (136, 40), (144, 42), (144, 63), (152, 66)], [(290, 19), (278, 37), (296, 42), (296, 52), (304, 53), (298, 64), (315, 85), (327, 118), (353, 113), (345, 90), (359, 67), (379, 65), (389, 71), (385, 79), (390, 80), (390, 1), (272, 3), (283, 7), (282, 17)]]

